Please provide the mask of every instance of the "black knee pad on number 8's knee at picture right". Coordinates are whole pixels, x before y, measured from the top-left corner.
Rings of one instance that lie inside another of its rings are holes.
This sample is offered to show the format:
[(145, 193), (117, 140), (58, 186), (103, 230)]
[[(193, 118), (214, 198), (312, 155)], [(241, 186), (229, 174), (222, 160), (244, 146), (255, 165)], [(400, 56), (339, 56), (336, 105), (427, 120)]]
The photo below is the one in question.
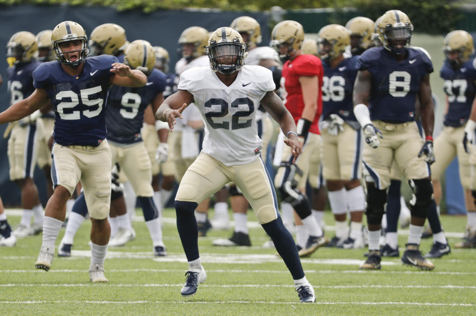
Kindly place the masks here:
[(426, 218), (428, 207), (433, 199), (433, 185), (430, 179), (411, 179), (408, 181), (412, 195), (410, 200), (411, 216)]

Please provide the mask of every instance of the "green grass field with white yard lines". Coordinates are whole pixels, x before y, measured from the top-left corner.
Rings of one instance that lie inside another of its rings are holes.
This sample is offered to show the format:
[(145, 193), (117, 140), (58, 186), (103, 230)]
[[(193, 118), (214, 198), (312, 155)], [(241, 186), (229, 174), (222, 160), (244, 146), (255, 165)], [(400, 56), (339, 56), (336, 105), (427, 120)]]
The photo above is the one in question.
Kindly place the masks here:
[[(6, 213), (12, 225), (19, 222), (18, 212)], [(256, 220), (252, 213), (249, 217)], [(334, 223), (331, 217), (326, 212), (328, 225)], [(442, 222), (454, 245), (466, 218), (443, 216)], [(76, 235), (72, 256), (55, 256), (48, 272), (34, 268), (41, 234), (18, 240), (14, 248), (0, 248), (1, 315), (476, 315), (474, 249), (452, 249), (433, 260), (433, 271), (425, 272), (402, 265), (399, 258), (384, 258), (380, 271), (359, 271), (364, 250), (321, 248), (302, 259), (317, 297), (316, 303), (303, 304), (284, 263), (274, 250), (261, 247), (267, 237), (254, 222), (252, 247), (212, 246), (213, 239), (229, 237), (229, 231), (210, 231), (200, 238), (207, 279), (194, 297), (183, 298), (180, 289), (188, 265), (175, 210), (164, 211), (166, 257), (153, 256), (143, 220), (138, 217), (133, 225), (134, 241), (109, 248), (109, 282), (104, 284), (89, 281), (89, 221)], [(63, 234), (64, 228), (57, 246)], [(401, 253), (407, 234), (399, 234)], [(334, 236), (332, 227), (327, 235)], [(422, 241), (423, 251), (430, 247), (431, 240)]]

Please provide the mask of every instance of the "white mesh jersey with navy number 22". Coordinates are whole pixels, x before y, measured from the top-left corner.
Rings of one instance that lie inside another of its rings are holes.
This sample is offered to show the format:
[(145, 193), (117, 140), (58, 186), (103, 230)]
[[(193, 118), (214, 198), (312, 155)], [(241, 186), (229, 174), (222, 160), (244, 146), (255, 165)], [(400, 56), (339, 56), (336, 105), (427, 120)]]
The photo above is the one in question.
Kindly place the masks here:
[(258, 158), (262, 140), (255, 115), (261, 99), (276, 88), (272, 72), (245, 65), (228, 87), (209, 66), (187, 69), (178, 89), (194, 96), (205, 122), (203, 152), (226, 166), (250, 163)]

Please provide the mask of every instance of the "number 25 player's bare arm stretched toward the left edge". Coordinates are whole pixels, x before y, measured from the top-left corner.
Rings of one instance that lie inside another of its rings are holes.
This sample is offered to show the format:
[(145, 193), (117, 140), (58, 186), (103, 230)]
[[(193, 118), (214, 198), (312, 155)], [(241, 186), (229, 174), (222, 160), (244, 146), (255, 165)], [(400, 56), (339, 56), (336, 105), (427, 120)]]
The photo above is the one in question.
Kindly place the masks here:
[(49, 101), (48, 94), (43, 89), (35, 89), (26, 99), (12, 104), (0, 113), (0, 124), (18, 121), (44, 107)]

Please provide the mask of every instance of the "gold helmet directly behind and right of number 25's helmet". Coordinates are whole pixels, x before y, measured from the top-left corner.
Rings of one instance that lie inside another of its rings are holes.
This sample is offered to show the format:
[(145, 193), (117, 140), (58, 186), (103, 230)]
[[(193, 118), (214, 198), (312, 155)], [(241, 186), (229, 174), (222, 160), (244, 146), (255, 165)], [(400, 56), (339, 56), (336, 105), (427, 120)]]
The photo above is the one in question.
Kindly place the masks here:
[(106, 23), (97, 26), (89, 39), (91, 55), (119, 56), (126, 49), (126, 31), (114, 23)]

